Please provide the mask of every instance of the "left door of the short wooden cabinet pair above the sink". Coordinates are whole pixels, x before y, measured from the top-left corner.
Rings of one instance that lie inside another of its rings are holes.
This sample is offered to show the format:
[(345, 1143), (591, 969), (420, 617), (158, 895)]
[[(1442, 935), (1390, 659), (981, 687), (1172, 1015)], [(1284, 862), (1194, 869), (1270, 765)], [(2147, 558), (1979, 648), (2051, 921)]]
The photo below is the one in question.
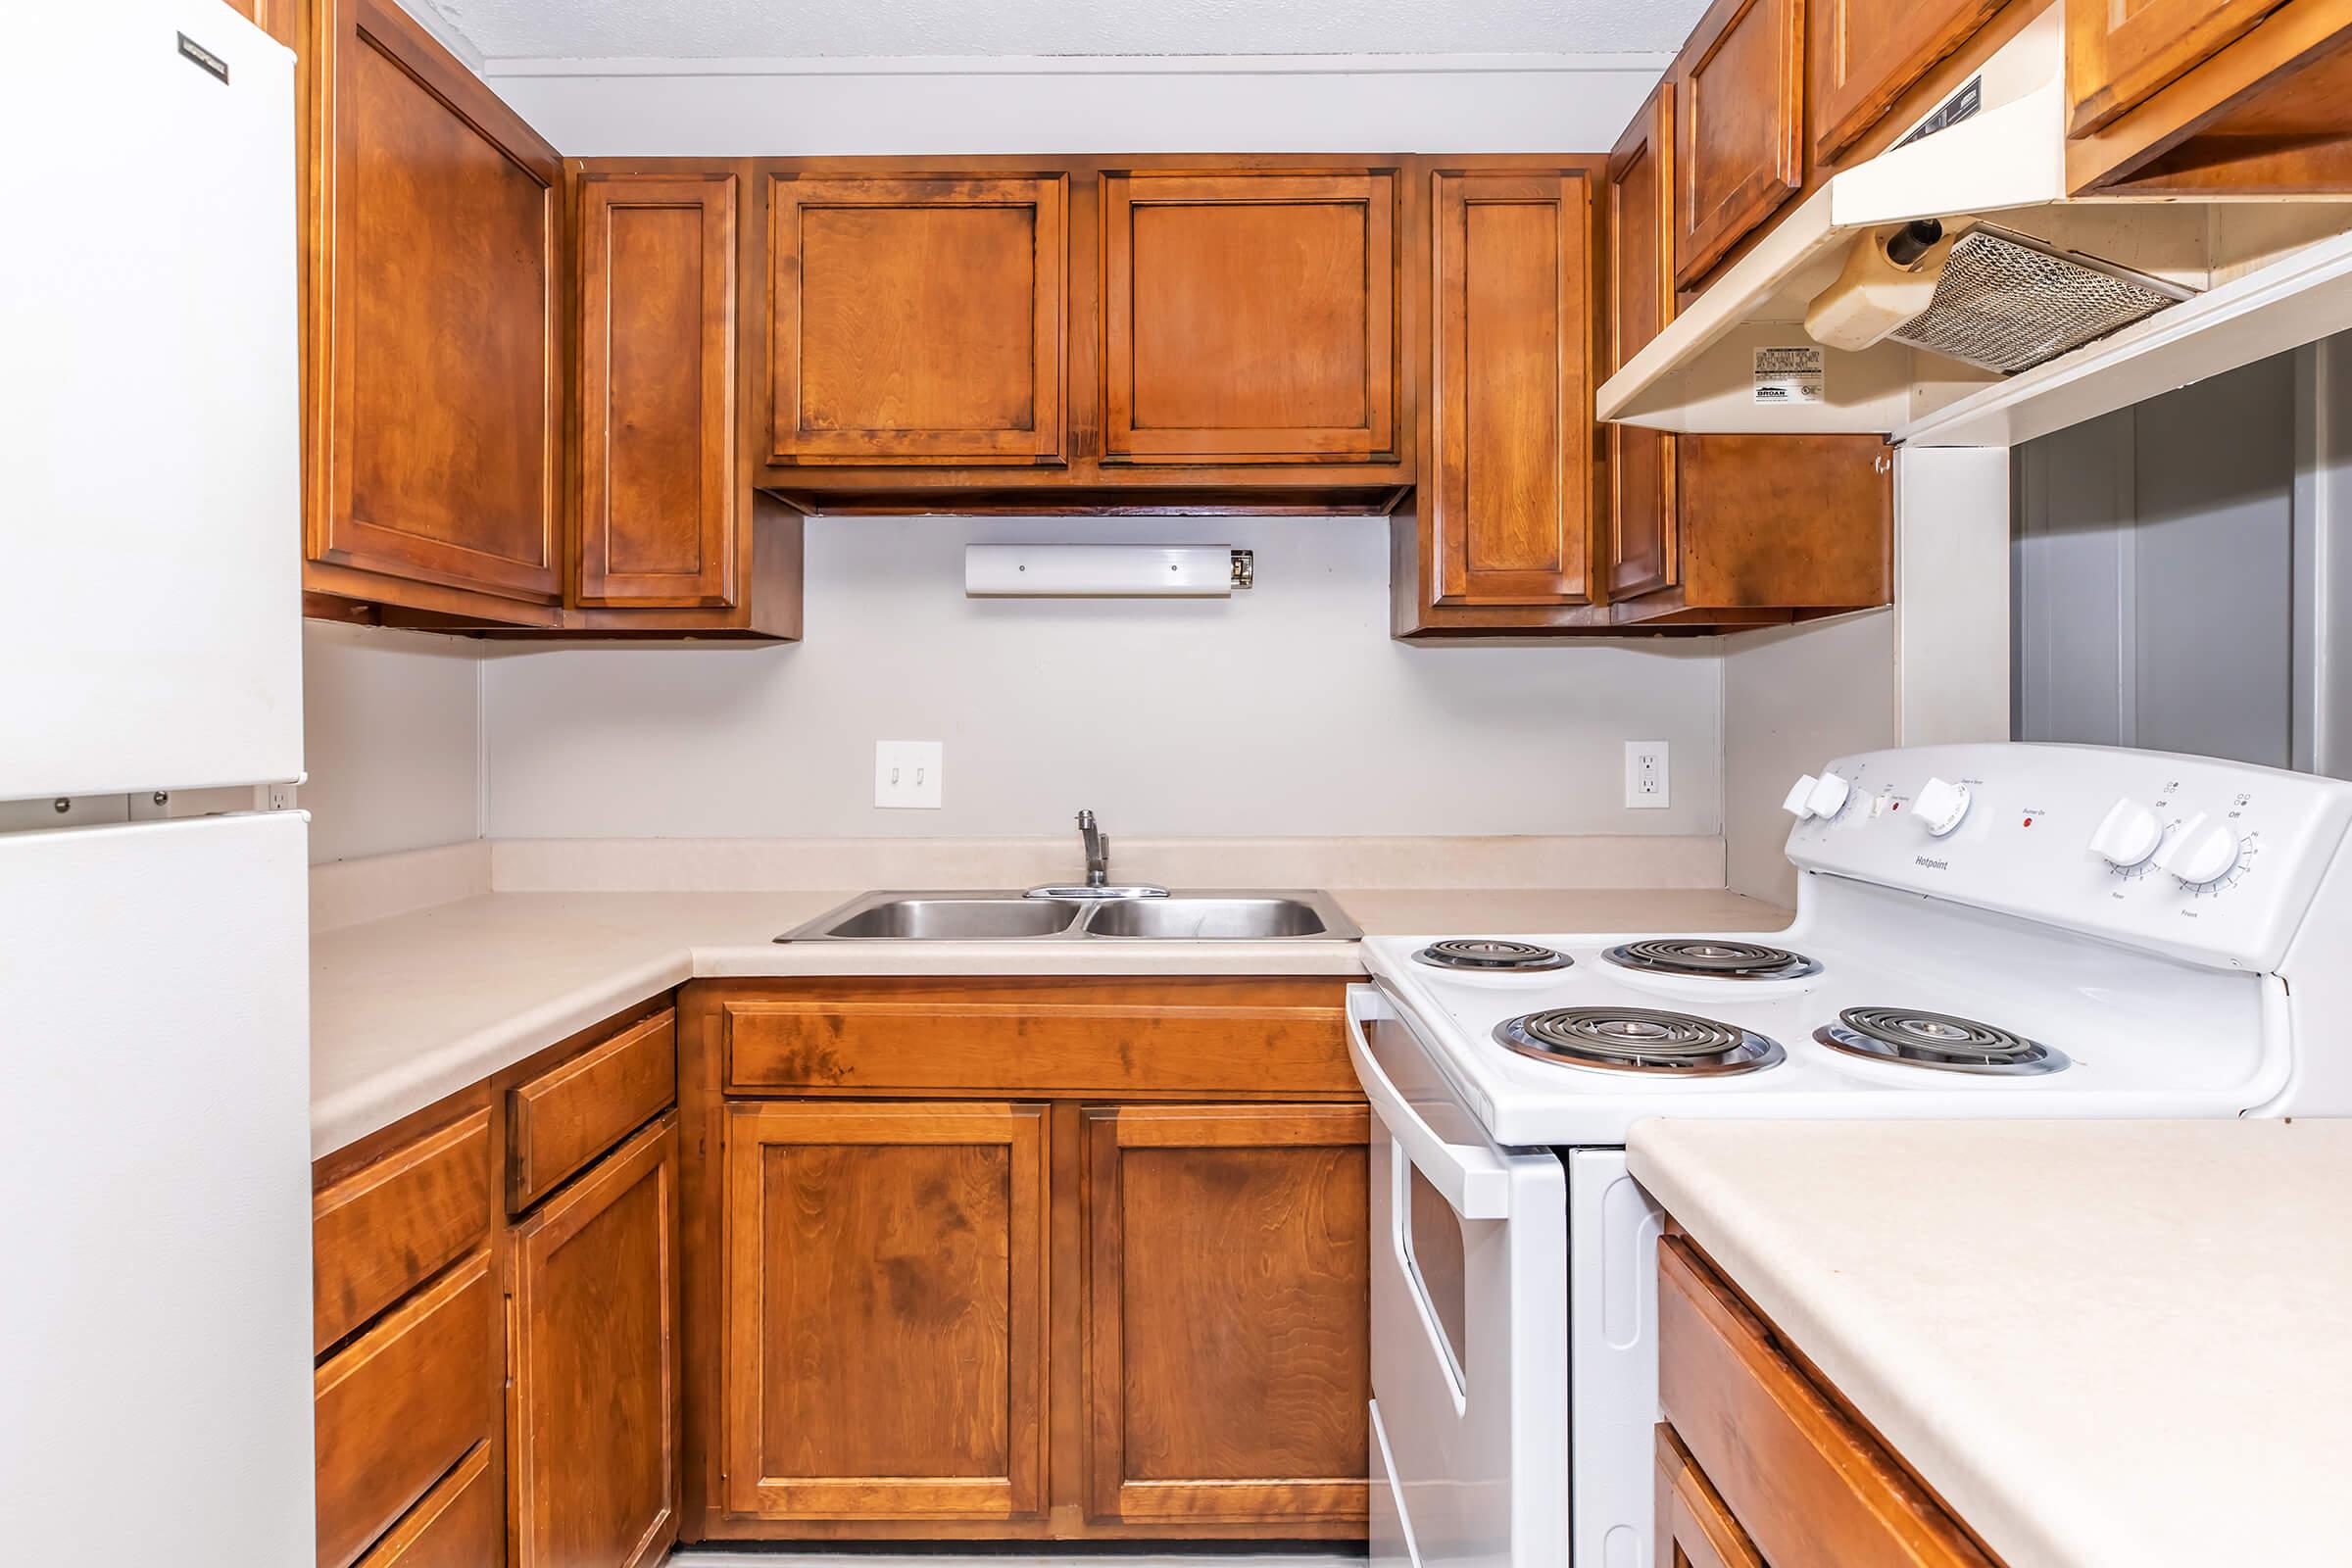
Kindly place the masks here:
[(1065, 174), (769, 181), (771, 463), (1058, 463)]

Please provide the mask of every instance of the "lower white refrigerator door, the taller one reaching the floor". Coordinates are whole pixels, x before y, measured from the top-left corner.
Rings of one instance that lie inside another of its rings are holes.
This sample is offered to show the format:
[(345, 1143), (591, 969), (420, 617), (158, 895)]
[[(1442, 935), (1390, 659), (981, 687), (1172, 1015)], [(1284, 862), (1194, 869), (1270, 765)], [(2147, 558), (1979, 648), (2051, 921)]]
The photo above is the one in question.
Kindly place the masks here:
[(14, 1563), (308, 1568), (308, 825), (0, 837)]

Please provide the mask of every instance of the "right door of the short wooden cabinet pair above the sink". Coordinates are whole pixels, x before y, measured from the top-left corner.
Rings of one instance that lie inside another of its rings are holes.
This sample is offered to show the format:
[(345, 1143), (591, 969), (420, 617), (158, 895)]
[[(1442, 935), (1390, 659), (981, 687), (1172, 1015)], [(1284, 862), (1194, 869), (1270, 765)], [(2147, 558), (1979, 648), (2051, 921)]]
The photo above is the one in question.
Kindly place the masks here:
[(1103, 174), (1103, 456), (1397, 449), (1390, 169)]

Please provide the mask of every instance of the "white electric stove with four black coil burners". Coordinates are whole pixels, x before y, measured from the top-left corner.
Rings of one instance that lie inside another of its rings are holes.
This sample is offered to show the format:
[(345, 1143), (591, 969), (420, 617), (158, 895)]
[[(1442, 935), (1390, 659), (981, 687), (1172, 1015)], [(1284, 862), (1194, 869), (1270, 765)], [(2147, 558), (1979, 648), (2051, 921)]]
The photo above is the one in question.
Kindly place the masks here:
[(2352, 1114), (2352, 785), (1964, 745), (1788, 806), (1771, 936), (1364, 943), (1381, 1568), (1651, 1568), (1642, 1117)]

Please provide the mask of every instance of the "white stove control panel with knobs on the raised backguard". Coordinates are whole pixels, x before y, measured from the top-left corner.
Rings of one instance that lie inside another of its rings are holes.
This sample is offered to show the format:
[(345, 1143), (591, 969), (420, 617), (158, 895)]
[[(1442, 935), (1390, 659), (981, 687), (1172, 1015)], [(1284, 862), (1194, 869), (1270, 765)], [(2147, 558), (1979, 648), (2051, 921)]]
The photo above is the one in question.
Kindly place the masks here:
[(2352, 785), (2096, 745), (1922, 745), (1839, 757), (1788, 809), (1806, 870), (2270, 971), (2345, 844)]

